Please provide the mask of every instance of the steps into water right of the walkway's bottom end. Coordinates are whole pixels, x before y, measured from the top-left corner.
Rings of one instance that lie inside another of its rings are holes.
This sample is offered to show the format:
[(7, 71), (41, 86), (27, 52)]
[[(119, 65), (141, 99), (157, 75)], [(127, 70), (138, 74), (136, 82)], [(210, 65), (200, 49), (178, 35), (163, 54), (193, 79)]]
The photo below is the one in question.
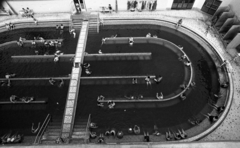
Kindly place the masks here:
[(85, 143), (88, 135), (87, 125), (88, 117), (81, 117), (75, 119), (71, 143)]

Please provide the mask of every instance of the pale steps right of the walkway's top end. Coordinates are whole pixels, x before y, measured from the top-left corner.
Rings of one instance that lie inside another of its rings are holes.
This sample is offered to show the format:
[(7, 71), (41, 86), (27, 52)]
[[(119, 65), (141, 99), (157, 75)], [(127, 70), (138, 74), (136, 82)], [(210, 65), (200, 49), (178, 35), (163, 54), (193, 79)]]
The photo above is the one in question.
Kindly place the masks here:
[(99, 32), (99, 16), (98, 13), (91, 13), (89, 16), (88, 34), (95, 35)]

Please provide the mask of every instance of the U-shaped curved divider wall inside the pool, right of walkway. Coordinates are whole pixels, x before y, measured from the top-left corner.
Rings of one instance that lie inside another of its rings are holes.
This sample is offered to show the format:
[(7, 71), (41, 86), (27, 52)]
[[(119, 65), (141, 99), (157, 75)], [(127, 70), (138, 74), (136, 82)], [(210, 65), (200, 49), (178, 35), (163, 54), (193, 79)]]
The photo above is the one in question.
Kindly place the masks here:
[[(168, 40), (165, 40), (162, 38), (153, 38), (153, 37), (133, 37), (133, 41), (134, 41), (134, 44), (154, 43), (154, 44), (168, 47), (168, 49), (172, 50), (175, 54), (177, 54), (178, 57), (185, 55), (186, 59), (190, 61), (189, 57), (185, 54), (185, 52), (182, 50), (181, 47), (175, 45), (174, 43)], [(129, 44), (129, 37), (105, 38), (104, 44)], [(180, 98), (180, 96), (182, 94), (187, 95), (191, 90), (189, 88), (193, 78), (192, 65), (189, 65), (189, 66), (184, 65), (184, 72), (185, 72), (185, 77), (182, 84), (186, 85), (186, 88), (181, 89), (179, 87), (179, 89), (177, 89), (175, 92), (169, 95), (164, 95), (164, 98), (162, 100), (157, 100), (156, 98), (155, 99), (151, 98), (150, 100), (149, 99), (128, 100), (124, 98), (120, 98), (120, 99), (110, 98), (109, 100), (116, 102), (116, 106), (114, 108), (155, 108), (155, 107), (166, 107), (166, 106), (179, 103), (181, 101), (184, 101), (184, 99)], [(100, 101), (100, 102), (106, 104), (107, 101), (108, 99), (104, 99), (103, 101)], [(148, 103), (148, 104), (143, 104), (143, 103)]]

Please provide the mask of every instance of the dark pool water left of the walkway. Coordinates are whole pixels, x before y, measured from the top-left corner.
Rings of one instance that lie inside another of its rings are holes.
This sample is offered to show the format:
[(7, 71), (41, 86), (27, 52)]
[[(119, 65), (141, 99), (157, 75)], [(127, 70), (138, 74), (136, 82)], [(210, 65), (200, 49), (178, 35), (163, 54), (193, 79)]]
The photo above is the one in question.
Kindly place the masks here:
[[(77, 37), (79, 32), (77, 32)], [(28, 28), (19, 29), (0, 34), (0, 43), (18, 40), (19, 37), (33, 39), (41, 36), (45, 39), (63, 38), (63, 46), (60, 48), (65, 54), (74, 54), (77, 46), (77, 38), (73, 39), (66, 28), (63, 35), (59, 34), (55, 28)], [(44, 47), (36, 49), (44, 50)], [(55, 50), (55, 49), (52, 49)], [(0, 77), (4, 78), (7, 72), (16, 73), (17, 77), (61, 77), (71, 73), (71, 62), (42, 62), (42, 63), (13, 63), (13, 55), (34, 55), (34, 49), (29, 47), (19, 47), (16, 44), (0, 47)], [(36, 81), (35, 81), (36, 82)], [(47, 104), (24, 104), (24, 105), (0, 105), (0, 136), (12, 130), (19, 131), (25, 136), (35, 136), (31, 133), (31, 125), (43, 122), (48, 113), (52, 116), (62, 116), (66, 103), (69, 82), (66, 80), (65, 85), (61, 88), (57, 86), (43, 86), (39, 82), (32, 86), (22, 85), (11, 87), (0, 87), (0, 100), (5, 100), (11, 95), (34, 96), (35, 98), (48, 98)]]

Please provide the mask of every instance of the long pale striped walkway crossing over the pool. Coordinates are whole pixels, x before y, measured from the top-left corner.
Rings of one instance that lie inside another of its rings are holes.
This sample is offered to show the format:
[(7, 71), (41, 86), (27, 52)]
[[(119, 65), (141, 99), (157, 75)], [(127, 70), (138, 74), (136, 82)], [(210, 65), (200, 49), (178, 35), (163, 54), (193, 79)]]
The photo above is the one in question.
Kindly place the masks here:
[(87, 41), (88, 22), (82, 23), (80, 36), (78, 39), (77, 50), (74, 59), (74, 66), (72, 68), (72, 76), (70, 80), (67, 103), (64, 112), (64, 121), (62, 125), (62, 138), (71, 136), (71, 129), (74, 125), (75, 109), (77, 107), (78, 90), (80, 86), (80, 77), (82, 73), (81, 63), (84, 58), (84, 52)]

